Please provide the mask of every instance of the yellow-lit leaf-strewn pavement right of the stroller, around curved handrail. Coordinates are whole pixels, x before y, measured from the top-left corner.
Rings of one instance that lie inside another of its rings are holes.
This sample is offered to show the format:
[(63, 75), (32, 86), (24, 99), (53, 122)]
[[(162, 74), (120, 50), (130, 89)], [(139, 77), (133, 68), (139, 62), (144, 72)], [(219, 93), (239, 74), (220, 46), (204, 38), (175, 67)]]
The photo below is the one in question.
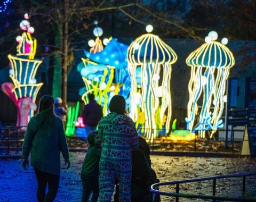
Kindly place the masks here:
[[(153, 156), (152, 167), (161, 182), (205, 178), (216, 175), (242, 174), (256, 171), (256, 159)], [(256, 176), (248, 179), (247, 190), (256, 190)], [(175, 187), (165, 186), (163, 191), (175, 192)], [(212, 181), (180, 184), (181, 193), (212, 195)], [(242, 195), (242, 178), (217, 180), (216, 196)], [(175, 201), (162, 196), (162, 201)], [(192, 199), (180, 198), (180, 201)], [(196, 201), (203, 201), (198, 199)]]

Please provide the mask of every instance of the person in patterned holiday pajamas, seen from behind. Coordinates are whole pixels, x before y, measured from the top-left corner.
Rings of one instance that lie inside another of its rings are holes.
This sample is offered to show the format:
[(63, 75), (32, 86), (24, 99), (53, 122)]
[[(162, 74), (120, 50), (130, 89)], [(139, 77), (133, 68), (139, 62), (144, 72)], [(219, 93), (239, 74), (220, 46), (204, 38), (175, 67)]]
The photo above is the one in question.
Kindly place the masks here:
[(109, 114), (99, 122), (102, 140), (100, 158), (100, 201), (111, 201), (115, 183), (119, 183), (119, 201), (131, 201), (132, 152), (139, 146), (139, 136), (127, 116), (125, 99), (115, 95), (108, 106)]

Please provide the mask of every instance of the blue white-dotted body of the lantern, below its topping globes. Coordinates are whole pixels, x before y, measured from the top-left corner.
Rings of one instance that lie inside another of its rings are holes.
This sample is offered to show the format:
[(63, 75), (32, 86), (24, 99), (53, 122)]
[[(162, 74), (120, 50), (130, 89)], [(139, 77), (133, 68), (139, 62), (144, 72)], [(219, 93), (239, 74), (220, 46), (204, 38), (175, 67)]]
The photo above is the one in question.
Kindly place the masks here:
[[(90, 90), (95, 92), (95, 90), (92, 90), (91, 83), (94, 83), (93, 80), (95, 78), (99, 78), (99, 88), (100, 86), (103, 88), (105, 83), (106, 86), (109, 87), (108, 90), (105, 91), (105, 93), (107, 93), (105, 98), (108, 97), (107, 103), (112, 96), (118, 94), (123, 95), (126, 99), (126, 103), (129, 104), (131, 80), (129, 72), (127, 71), (127, 48), (128, 45), (119, 43), (117, 39), (111, 38), (107, 46), (100, 52), (90, 53), (84, 51), (87, 58), (82, 58), (84, 68), (81, 69), (81, 67), (78, 67), (78, 71), (81, 72), (82, 78), (85, 82), (84, 91), (86, 91), (86, 94)], [(106, 80), (107, 82), (103, 82), (102, 80), (104, 71), (106, 72), (106, 76), (103, 77), (103, 80)], [(85, 96), (82, 96), (82, 99), (86, 103)], [(104, 100), (104, 102), (98, 100), (98, 103), (102, 104), (103, 107), (107, 106), (106, 100)], [(127, 105), (127, 107), (129, 107), (129, 105)]]

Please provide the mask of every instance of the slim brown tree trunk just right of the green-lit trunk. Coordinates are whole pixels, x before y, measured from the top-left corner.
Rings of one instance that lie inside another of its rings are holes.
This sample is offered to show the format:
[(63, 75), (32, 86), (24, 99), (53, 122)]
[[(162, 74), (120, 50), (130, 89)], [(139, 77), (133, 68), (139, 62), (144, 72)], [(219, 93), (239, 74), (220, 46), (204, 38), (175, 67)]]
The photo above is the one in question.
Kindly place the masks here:
[(68, 20), (67, 20), (67, 3), (63, 0), (63, 14), (64, 14), (64, 24), (63, 24), (63, 63), (62, 63), (62, 100), (63, 103), (67, 103), (67, 82), (68, 82)]

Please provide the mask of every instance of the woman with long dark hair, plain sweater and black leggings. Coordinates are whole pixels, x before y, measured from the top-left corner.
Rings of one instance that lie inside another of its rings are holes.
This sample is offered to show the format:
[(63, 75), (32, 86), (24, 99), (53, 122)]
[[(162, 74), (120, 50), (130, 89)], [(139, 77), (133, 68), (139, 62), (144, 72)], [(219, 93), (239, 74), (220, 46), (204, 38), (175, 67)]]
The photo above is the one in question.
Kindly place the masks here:
[[(60, 117), (54, 114), (54, 99), (44, 95), (39, 102), (39, 113), (29, 123), (22, 146), (22, 167), (27, 169), (28, 156), (37, 179), (37, 201), (53, 201), (60, 181), (60, 153), (70, 166), (68, 145)], [(46, 186), (48, 185), (48, 192)]]

